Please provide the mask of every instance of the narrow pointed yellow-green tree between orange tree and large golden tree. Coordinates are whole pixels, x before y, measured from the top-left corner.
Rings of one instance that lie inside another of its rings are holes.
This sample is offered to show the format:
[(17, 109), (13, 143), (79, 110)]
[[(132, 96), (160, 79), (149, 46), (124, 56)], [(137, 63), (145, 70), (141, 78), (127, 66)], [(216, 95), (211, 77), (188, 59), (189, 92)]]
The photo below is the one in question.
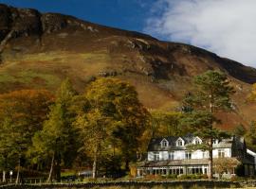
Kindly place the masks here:
[[(52, 180), (53, 171), (55, 170), (56, 179), (61, 180), (61, 161), (64, 160), (64, 154), (72, 147), (76, 148), (74, 140), (75, 129), (72, 128), (75, 114), (70, 112), (71, 102), (76, 92), (68, 79), (65, 79), (56, 93), (54, 105), (50, 107), (48, 119), (44, 123), (44, 128), (38, 131), (33, 137), (32, 154), (37, 154), (36, 161), (39, 157), (48, 159), (51, 157), (50, 171), (47, 181)], [(72, 139), (72, 140), (70, 140)], [(70, 152), (70, 151), (69, 151)], [(71, 156), (68, 156), (71, 161)]]

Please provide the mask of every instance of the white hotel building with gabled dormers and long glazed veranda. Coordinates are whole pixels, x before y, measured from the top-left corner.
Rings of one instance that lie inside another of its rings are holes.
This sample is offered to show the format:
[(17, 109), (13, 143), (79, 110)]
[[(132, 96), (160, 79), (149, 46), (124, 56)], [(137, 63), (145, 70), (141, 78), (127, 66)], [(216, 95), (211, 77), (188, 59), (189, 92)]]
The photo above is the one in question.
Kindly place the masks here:
[[(201, 143), (202, 140), (192, 134), (184, 137), (153, 138), (148, 146), (146, 160), (138, 163), (137, 176), (208, 174), (209, 152), (187, 149), (188, 145)], [(253, 153), (247, 149), (244, 138), (233, 136), (215, 140), (213, 143), (213, 162), (216, 158), (233, 158), (241, 163), (239, 170), (227, 174), (254, 175), (256, 154)]]

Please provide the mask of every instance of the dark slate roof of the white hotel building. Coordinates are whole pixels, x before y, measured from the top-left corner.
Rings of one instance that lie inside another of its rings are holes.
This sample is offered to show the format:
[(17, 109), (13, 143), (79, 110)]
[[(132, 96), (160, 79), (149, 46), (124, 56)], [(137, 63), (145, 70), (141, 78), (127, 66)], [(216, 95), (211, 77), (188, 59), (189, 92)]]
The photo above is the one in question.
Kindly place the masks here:
[[(168, 136), (168, 137), (159, 137), (153, 138), (150, 141), (148, 146), (148, 151), (170, 151), (170, 150), (185, 150), (186, 146), (192, 144), (193, 139), (196, 136), (192, 134), (187, 134), (185, 136)], [(185, 146), (176, 146), (176, 141), (178, 138), (182, 138), (185, 142)], [(200, 138), (200, 137), (199, 137)], [(161, 141), (166, 139), (169, 142), (169, 146), (161, 146)], [(235, 145), (237, 149), (243, 149), (245, 145), (245, 141), (243, 138), (239, 137), (230, 137), (228, 139), (222, 139), (218, 144), (213, 144), (213, 148), (224, 148), (224, 147), (232, 147)]]

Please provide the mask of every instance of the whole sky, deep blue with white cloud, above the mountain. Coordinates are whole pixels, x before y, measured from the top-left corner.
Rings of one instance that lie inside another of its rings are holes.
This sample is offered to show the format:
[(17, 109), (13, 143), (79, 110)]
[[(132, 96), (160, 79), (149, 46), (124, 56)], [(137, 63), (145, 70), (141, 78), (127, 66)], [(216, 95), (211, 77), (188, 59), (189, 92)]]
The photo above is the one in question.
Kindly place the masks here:
[[(0, 0), (190, 43), (256, 67), (256, 0)], [(1, 15), (0, 15), (1, 16)]]

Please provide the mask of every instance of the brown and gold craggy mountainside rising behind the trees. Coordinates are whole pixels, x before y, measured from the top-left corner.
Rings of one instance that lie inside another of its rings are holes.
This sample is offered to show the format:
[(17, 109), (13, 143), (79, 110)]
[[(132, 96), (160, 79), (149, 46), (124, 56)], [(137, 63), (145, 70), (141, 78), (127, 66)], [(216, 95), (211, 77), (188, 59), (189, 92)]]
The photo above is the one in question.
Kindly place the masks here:
[(148, 109), (175, 110), (191, 90), (192, 77), (214, 69), (227, 73), (237, 91), (235, 112), (219, 115), (222, 127), (247, 125), (256, 111), (246, 103), (256, 69), (192, 45), (2, 4), (0, 41), (0, 93), (54, 91), (65, 77), (82, 93), (95, 77), (119, 77), (136, 86)]

